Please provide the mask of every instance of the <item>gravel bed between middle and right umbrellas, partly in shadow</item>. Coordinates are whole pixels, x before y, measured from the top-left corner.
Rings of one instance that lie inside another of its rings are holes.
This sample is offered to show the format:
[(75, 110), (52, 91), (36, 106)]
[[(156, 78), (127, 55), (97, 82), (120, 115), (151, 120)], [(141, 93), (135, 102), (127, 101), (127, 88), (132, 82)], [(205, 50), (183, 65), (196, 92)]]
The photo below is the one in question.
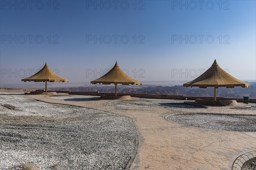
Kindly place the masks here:
[(116, 107), (144, 107), (144, 108), (202, 108), (197, 105), (184, 104), (186, 100), (172, 99), (140, 99), (138, 101), (116, 101), (107, 105)]

